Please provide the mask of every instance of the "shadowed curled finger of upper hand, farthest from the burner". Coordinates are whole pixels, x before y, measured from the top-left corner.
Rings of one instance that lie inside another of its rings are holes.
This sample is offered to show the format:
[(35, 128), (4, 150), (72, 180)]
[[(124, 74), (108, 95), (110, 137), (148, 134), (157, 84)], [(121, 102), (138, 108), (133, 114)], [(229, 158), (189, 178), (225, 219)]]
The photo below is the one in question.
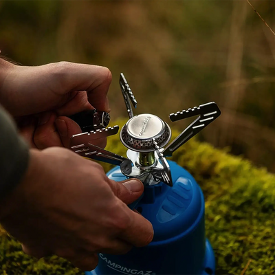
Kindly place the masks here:
[(34, 132), (34, 144), (40, 150), (51, 146), (62, 146), (61, 137), (55, 126), (56, 114), (53, 112), (42, 113), (39, 117), (39, 126)]

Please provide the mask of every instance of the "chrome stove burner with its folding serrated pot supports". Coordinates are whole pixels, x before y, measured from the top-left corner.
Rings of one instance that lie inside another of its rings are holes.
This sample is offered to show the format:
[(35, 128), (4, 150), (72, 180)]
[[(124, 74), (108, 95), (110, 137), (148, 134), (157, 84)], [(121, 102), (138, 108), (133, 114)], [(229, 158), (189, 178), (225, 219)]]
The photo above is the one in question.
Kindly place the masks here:
[[(123, 74), (120, 74), (120, 87), (130, 118), (120, 131), (122, 144), (129, 148), (127, 151), (128, 158), (92, 144), (93, 140), (118, 133), (118, 126), (73, 135), (71, 137), (72, 150), (83, 157), (119, 165), (123, 175), (140, 179), (144, 185), (154, 185), (162, 181), (168, 186), (173, 186), (170, 167), (165, 157), (172, 155), (179, 146), (219, 117), (221, 114), (219, 107), (215, 102), (209, 102), (199, 105), (199, 107), (171, 113), (170, 120), (172, 121), (190, 118), (195, 115), (198, 118), (164, 148), (171, 137), (168, 124), (150, 113), (133, 116), (131, 104), (136, 107), (137, 101)], [(108, 124), (109, 119), (108, 113), (95, 111), (94, 127)]]

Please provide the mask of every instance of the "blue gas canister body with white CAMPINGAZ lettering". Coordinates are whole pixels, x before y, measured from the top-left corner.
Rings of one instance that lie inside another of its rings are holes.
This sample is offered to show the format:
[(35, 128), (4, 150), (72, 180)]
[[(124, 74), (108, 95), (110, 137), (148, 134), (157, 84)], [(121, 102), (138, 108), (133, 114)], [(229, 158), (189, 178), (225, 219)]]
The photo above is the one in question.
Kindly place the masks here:
[[(151, 221), (153, 241), (124, 255), (99, 254), (96, 270), (86, 275), (214, 275), (214, 252), (206, 240), (204, 198), (195, 179), (175, 162), (168, 162), (173, 187), (146, 185), (135, 209)], [(126, 179), (120, 168), (109, 179)]]

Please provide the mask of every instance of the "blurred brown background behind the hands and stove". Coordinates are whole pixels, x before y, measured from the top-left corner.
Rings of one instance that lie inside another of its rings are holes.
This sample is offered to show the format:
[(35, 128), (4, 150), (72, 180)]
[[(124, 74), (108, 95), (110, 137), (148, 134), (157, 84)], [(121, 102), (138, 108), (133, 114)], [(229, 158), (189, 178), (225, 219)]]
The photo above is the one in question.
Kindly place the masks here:
[[(275, 1), (250, 1), (275, 29)], [(215, 101), (222, 115), (199, 139), (275, 172), (275, 36), (245, 0), (2, 0), (0, 49), (24, 65), (109, 67), (112, 118), (126, 116), (120, 72), (136, 114), (168, 121)]]

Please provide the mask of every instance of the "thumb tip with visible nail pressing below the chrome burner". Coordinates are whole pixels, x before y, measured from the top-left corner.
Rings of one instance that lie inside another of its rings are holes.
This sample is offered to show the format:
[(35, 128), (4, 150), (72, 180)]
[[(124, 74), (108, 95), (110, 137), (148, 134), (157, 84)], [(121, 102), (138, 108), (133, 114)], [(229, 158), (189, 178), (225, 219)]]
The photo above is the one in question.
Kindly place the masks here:
[(125, 181), (109, 181), (109, 186), (118, 199), (126, 204), (136, 201), (144, 190), (144, 185), (139, 179), (126, 179)]

